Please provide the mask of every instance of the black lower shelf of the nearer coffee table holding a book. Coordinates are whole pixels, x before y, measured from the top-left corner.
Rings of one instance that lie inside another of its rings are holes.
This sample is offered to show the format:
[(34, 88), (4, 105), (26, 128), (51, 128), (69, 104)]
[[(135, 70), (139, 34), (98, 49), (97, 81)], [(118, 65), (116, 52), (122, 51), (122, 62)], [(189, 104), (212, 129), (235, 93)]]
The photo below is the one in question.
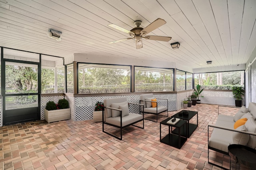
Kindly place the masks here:
[[(180, 139), (180, 147), (179, 147), (179, 139)], [(186, 141), (187, 139), (185, 137), (179, 137), (178, 135), (175, 135), (172, 133), (166, 135), (163, 139), (160, 139), (160, 142), (178, 149), (180, 149)]]

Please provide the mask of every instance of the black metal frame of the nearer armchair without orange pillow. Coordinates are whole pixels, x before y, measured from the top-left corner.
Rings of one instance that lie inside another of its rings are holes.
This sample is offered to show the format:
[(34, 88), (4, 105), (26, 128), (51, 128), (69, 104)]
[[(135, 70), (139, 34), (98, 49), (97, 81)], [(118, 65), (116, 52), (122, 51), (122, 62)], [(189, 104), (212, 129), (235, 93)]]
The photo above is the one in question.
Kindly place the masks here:
[[(143, 107), (143, 109), (144, 109), (144, 105), (143, 104), (135, 104), (135, 103), (128, 103), (129, 105), (130, 104), (134, 104), (134, 105), (139, 105), (139, 107)], [(129, 106), (128, 105), (128, 106)], [(120, 126), (117, 126), (117, 125), (113, 125), (113, 124), (111, 124), (111, 123), (107, 123), (107, 122), (105, 122), (104, 121), (104, 109), (112, 109), (112, 110), (118, 110), (118, 111), (120, 111)], [(110, 135), (110, 136), (112, 136), (112, 137), (115, 137), (115, 138), (117, 138), (117, 139), (119, 139), (119, 140), (122, 140), (122, 130), (124, 129), (124, 128), (126, 128), (126, 127), (128, 127), (128, 126), (130, 126), (130, 125), (132, 125), (132, 126), (135, 126), (135, 127), (138, 127), (138, 128), (141, 128), (141, 129), (144, 129), (144, 112), (142, 112), (142, 115), (143, 115), (143, 118), (142, 119), (140, 119), (140, 120), (138, 120), (138, 121), (135, 121), (135, 122), (133, 122), (133, 123), (130, 123), (130, 124), (128, 124), (128, 125), (126, 125), (126, 126), (122, 126), (122, 110), (121, 109), (116, 109), (116, 108), (113, 108), (113, 107), (104, 107), (104, 109), (102, 110), (102, 132), (104, 132), (104, 133), (106, 133), (106, 134), (108, 134), (108, 135)], [(140, 112), (141, 113), (141, 112)], [(138, 123), (138, 122), (140, 122), (140, 121), (143, 121), (143, 127), (139, 127), (139, 126), (136, 126), (136, 125), (134, 125), (135, 123)], [(111, 134), (111, 133), (108, 133), (108, 132), (106, 132), (106, 131), (104, 131), (104, 124), (106, 124), (106, 125), (110, 125), (110, 126), (113, 126), (113, 127), (116, 127), (116, 128), (118, 128), (118, 129), (120, 129), (120, 137), (117, 137), (117, 136), (115, 136), (115, 135), (113, 135), (113, 134)]]

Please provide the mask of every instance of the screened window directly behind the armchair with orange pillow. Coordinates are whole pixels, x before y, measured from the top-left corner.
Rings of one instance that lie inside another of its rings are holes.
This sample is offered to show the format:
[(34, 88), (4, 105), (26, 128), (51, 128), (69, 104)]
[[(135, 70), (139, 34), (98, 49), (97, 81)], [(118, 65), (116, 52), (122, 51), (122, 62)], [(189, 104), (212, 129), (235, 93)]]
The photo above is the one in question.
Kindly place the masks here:
[(135, 92), (173, 91), (173, 69), (134, 67)]

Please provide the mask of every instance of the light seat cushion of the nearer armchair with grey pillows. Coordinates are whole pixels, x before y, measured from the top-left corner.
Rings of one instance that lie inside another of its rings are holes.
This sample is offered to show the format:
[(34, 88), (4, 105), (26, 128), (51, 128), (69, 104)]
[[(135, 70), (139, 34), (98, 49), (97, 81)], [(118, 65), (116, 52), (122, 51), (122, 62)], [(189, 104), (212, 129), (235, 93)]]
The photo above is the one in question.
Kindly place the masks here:
[[(143, 119), (143, 116), (136, 113), (129, 113), (129, 115), (122, 117), (122, 127), (134, 123)], [(121, 126), (121, 118), (118, 117), (109, 117), (106, 118), (106, 123), (110, 123), (112, 125)]]

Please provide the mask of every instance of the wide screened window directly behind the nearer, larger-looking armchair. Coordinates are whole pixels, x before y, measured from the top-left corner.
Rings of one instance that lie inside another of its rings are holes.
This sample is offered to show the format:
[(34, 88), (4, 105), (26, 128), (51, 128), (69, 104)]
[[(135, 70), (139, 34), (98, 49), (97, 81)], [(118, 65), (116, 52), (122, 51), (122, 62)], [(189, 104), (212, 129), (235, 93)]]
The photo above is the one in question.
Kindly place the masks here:
[(78, 63), (78, 93), (130, 92), (130, 66)]

